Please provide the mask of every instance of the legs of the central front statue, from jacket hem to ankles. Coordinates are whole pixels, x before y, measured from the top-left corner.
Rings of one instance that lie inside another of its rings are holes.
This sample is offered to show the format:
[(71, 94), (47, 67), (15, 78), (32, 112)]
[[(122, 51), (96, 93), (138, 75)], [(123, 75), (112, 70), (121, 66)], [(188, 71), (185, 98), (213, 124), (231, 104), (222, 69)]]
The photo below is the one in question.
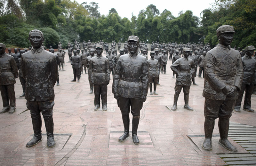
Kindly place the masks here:
[(140, 122), (140, 110), (143, 107), (143, 102), (140, 101), (140, 98), (123, 98), (119, 96), (117, 100), (117, 105), (121, 110), (124, 131), (129, 132), (130, 111), (132, 113), (132, 134), (137, 134), (139, 122)]

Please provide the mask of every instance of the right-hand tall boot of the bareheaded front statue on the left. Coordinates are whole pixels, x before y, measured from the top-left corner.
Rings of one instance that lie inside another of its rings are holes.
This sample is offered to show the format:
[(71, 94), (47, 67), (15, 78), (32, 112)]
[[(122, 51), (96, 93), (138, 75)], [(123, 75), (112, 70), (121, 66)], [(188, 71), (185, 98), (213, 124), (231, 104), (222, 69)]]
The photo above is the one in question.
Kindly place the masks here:
[(47, 147), (52, 148), (56, 145), (53, 136), (53, 118), (44, 121), (44, 123), (47, 136)]

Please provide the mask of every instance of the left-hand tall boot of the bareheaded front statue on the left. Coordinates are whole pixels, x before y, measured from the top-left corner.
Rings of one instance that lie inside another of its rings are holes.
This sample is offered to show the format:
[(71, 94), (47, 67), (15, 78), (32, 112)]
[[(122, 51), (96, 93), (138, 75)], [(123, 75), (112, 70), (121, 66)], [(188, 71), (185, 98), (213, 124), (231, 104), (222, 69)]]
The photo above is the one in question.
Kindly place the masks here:
[(42, 141), (42, 131), (41, 131), (42, 120), (41, 120), (41, 117), (37, 120), (32, 119), (32, 125), (33, 125), (33, 130), (34, 130), (34, 136), (30, 141), (28, 141), (28, 143), (26, 144), (26, 147), (35, 146), (36, 144), (38, 144), (38, 142)]

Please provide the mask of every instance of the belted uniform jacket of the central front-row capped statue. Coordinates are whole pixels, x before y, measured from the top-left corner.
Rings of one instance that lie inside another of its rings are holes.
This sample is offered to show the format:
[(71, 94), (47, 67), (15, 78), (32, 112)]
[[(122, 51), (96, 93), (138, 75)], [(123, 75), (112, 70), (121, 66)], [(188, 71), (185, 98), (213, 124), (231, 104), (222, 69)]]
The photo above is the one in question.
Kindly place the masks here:
[(148, 94), (148, 61), (138, 54), (120, 56), (113, 80), (112, 92), (123, 98), (140, 98)]

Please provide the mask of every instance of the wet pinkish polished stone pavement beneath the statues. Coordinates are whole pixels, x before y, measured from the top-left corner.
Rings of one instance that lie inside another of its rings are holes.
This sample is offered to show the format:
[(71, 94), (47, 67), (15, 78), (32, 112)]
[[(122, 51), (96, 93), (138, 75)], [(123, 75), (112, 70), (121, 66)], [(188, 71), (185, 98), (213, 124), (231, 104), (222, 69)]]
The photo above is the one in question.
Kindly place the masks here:
[[(105, 54), (104, 54), (105, 56)], [(148, 56), (148, 58), (150, 58)], [(168, 109), (173, 104), (176, 78), (172, 78), (171, 61), (167, 74), (160, 74), (158, 95), (149, 95), (140, 113), (138, 137), (140, 145), (131, 138), (119, 143), (124, 130), (120, 109), (112, 94), (112, 75), (108, 85), (108, 111), (93, 111), (94, 95), (89, 94), (88, 74), (82, 74), (80, 83), (70, 82), (73, 71), (68, 56), (65, 71), (59, 71), (60, 86), (55, 86), (53, 108), (56, 146), (46, 147), (46, 131), (42, 125), (43, 140), (27, 148), (33, 137), (33, 128), (26, 100), (19, 98), (22, 88), (16, 79), (16, 111), (0, 114), (0, 165), (250, 165), (256, 164), (256, 113), (232, 113), (229, 139), (239, 147), (231, 153), (213, 141), (214, 150), (201, 148), (204, 134), (204, 79), (196, 77), (198, 86), (191, 86), (189, 105), (194, 111), (183, 109), (181, 92), (177, 111)], [(199, 68), (197, 69), (198, 73)], [(243, 102), (242, 102), (243, 106)], [(2, 109), (2, 102), (0, 104)], [(252, 108), (256, 110), (256, 95), (252, 95)], [(132, 115), (130, 114), (130, 119)], [(131, 121), (132, 122), (132, 119)], [(218, 120), (213, 134), (219, 137)], [(132, 129), (132, 124), (130, 124)], [(232, 130), (231, 130), (232, 129)]]

